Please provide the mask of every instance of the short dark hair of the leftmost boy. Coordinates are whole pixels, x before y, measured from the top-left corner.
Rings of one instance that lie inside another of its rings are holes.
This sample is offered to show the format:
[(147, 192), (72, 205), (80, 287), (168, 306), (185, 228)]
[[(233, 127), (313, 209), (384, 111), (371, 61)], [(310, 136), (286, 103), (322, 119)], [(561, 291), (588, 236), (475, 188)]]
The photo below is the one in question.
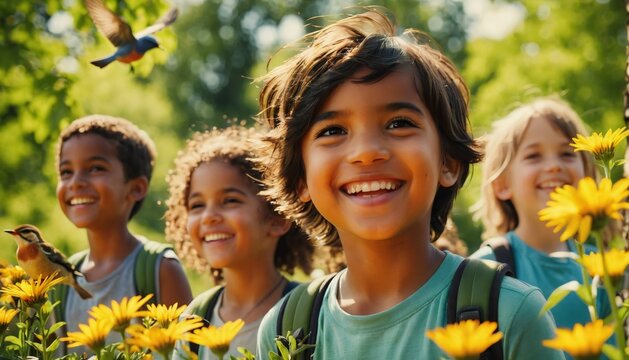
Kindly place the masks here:
[[(96, 134), (115, 144), (125, 180), (146, 176), (150, 182), (157, 156), (155, 143), (129, 120), (108, 115), (88, 115), (76, 119), (61, 132), (57, 142), (57, 169), (63, 144), (72, 137), (85, 134)], [(133, 205), (128, 220), (140, 211), (143, 202), (144, 199), (141, 199)]]

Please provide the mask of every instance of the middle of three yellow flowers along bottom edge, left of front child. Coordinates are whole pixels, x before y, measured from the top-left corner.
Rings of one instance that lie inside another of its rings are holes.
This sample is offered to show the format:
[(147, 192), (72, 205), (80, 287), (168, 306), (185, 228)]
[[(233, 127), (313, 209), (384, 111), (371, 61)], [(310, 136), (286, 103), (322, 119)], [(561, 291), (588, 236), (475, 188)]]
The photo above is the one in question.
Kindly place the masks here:
[(171, 322), (167, 327), (153, 326), (148, 329), (142, 325), (134, 324), (127, 328), (127, 333), (130, 335), (127, 343), (169, 355), (178, 340), (184, 339), (184, 335), (189, 331), (203, 326), (202, 321), (201, 318), (188, 318), (183, 321)]

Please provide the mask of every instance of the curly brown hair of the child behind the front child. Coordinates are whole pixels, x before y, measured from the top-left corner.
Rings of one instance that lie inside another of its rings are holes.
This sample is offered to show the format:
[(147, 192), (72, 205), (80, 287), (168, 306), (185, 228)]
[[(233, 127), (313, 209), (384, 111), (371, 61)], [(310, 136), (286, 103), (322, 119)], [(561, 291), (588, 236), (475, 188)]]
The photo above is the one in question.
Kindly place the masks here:
[[(259, 128), (231, 126), (209, 132), (195, 133), (184, 151), (175, 159), (175, 167), (168, 173), (170, 197), (166, 202), (166, 238), (174, 243), (178, 255), (188, 266), (199, 273), (212, 272), (215, 283), (222, 281), (222, 271), (213, 269), (201, 254), (192, 246), (187, 231), (188, 195), (190, 179), (196, 168), (204, 162), (224, 161), (240, 170), (242, 176), (251, 180), (253, 188), (262, 190), (262, 173), (254, 166), (256, 156), (253, 139), (260, 136)], [(273, 205), (262, 198), (267, 205), (266, 212), (274, 214)], [(314, 247), (305, 233), (297, 226), (279, 238), (275, 250), (275, 266), (289, 274), (300, 267), (306, 274), (312, 271)]]

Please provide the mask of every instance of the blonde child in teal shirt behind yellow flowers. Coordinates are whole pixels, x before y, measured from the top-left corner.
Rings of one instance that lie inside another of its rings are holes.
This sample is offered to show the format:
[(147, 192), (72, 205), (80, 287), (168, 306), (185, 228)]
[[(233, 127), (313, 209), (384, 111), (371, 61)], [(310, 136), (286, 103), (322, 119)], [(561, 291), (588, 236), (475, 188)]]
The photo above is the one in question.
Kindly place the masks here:
[[(498, 245), (494, 245), (497, 249), (481, 246), (470, 257), (501, 260), (496, 254), (506, 250), (516, 278), (539, 287), (546, 297), (571, 280), (582, 281), (579, 265), (565, 254), (575, 254), (575, 245), (561, 242), (561, 234), (538, 215), (555, 188), (577, 186), (583, 177), (597, 176), (590, 155), (569, 145), (577, 134), (587, 134), (579, 115), (566, 102), (549, 97), (522, 105), (496, 121), (485, 145), (477, 214), (485, 226), (484, 237)], [(561, 252), (563, 256), (557, 256)], [(598, 303), (599, 312), (608, 312), (603, 296)], [(552, 314), (562, 328), (590, 321), (576, 294), (555, 306)]]

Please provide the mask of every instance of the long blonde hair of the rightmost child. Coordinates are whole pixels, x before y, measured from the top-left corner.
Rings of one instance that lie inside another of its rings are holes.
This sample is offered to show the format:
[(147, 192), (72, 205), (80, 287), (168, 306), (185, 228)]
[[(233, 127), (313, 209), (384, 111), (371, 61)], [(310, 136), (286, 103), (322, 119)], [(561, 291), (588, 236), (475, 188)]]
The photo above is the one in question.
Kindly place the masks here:
[[(482, 219), (485, 227), (483, 238), (505, 234), (518, 226), (519, 218), (513, 203), (510, 200), (498, 199), (492, 183), (505, 174), (515, 158), (526, 129), (536, 117), (547, 119), (568, 139), (577, 134), (588, 134), (579, 115), (568, 103), (556, 97), (534, 100), (494, 122), (492, 132), (484, 139), (485, 159), (482, 164), (481, 199), (475, 205), (476, 216)], [(590, 154), (584, 151), (577, 154), (583, 161), (585, 176), (596, 178), (596, 168)]]

